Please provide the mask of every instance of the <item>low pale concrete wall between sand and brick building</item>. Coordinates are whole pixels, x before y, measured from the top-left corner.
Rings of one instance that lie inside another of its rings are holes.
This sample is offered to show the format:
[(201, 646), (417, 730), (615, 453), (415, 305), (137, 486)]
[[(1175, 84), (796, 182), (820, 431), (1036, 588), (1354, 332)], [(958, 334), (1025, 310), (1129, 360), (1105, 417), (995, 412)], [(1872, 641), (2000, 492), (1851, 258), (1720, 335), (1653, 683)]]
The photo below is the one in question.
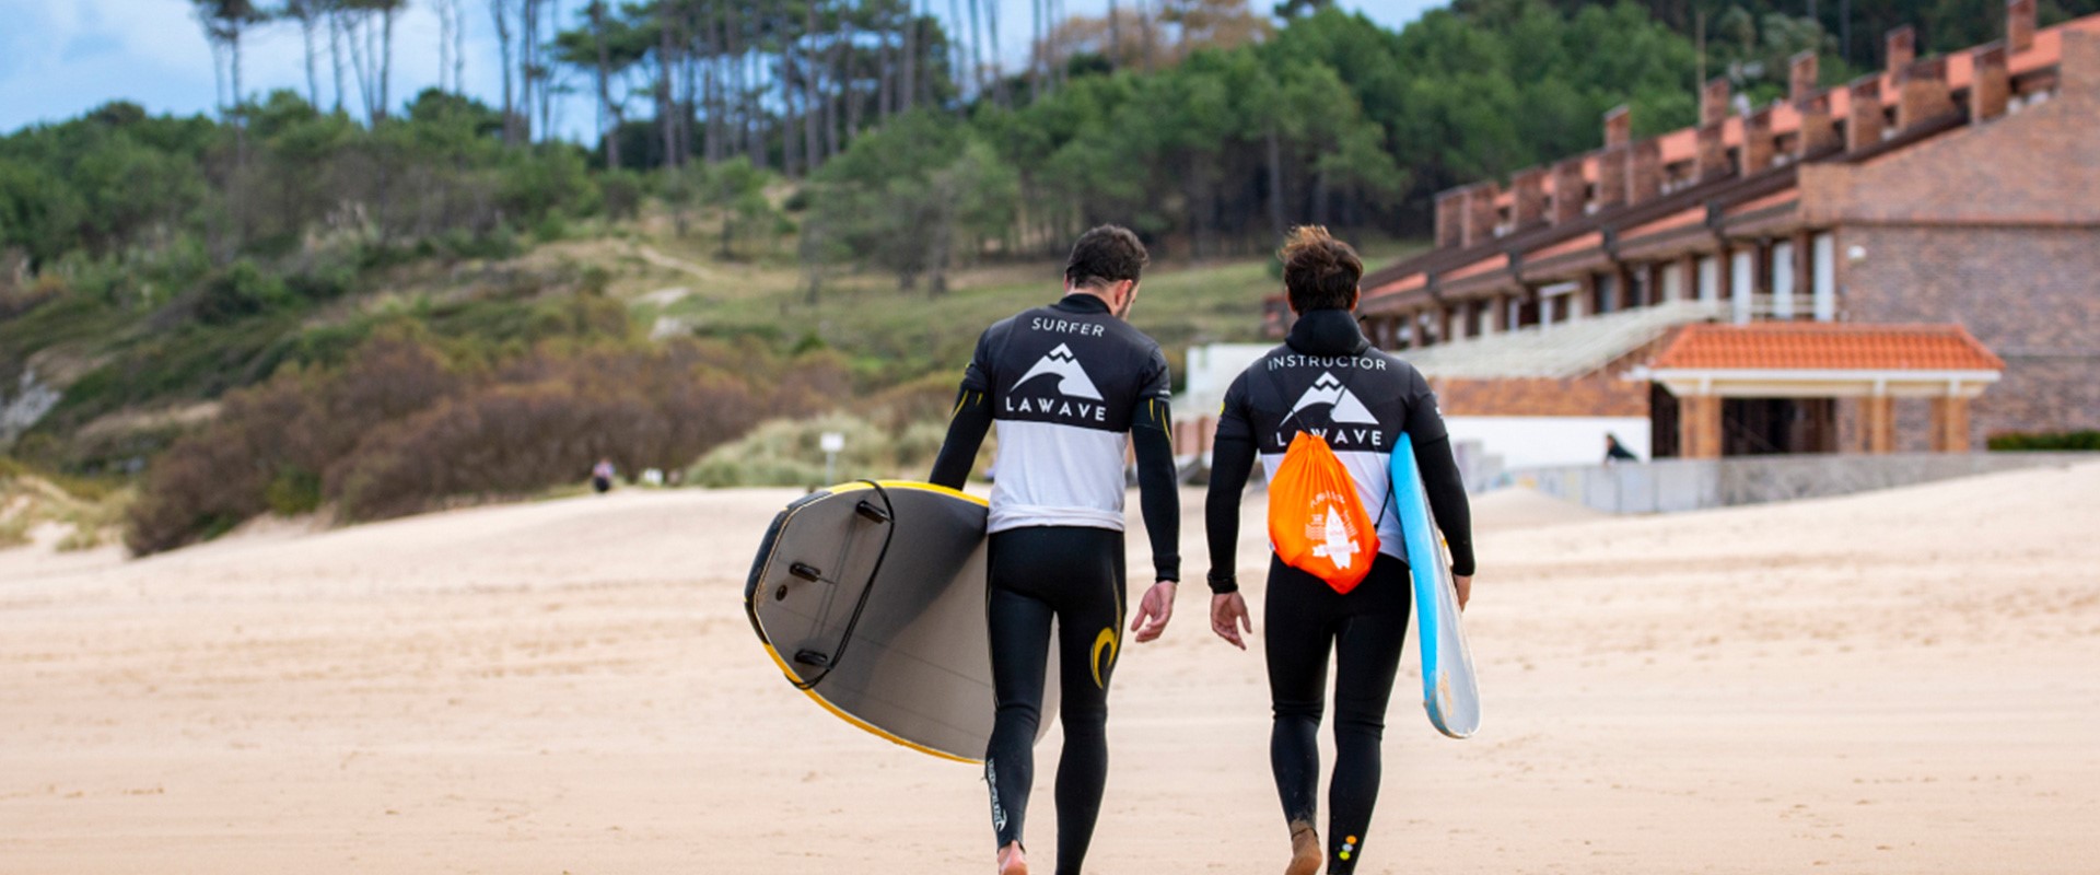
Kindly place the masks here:
[(1619, 466), (1533, 468), (1510, 485), (1613, 514), (1670, 514), (1739, 504), (1850, 495), (1999, 470), (2100, 462), (2100, 453), (1896, 453), (1661, 460)]

